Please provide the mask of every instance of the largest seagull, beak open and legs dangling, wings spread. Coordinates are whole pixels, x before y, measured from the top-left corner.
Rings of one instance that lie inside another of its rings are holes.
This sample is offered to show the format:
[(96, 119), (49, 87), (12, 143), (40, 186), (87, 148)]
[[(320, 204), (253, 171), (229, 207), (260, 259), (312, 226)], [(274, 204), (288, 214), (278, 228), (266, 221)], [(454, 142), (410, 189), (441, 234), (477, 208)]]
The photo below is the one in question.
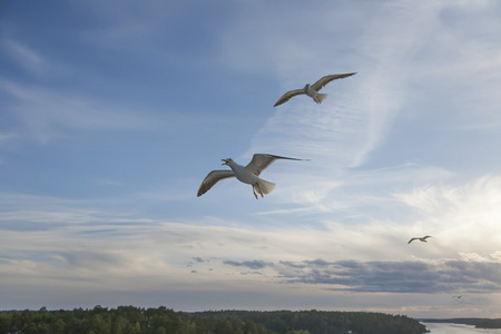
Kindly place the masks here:
[(269, 165), (272, 165), (277, 159), (304, 160), (273, 155), (255, 154), (253, 156), (252, 161), (244, 167), (235, 163), (233, 159), (222, 159), (222, 161), (224, 161), (222, 165), (229, 166), (232, 170), (210, 171), (205, 177), (204, 181), (200, 185), (200, 188), (198, 188), (197, 196), (202, 196), (203, 194), (207, 193), (208, 189), (210, 189), (215, 184), (217, 184), (222, 179), (236, 177), (239, 181), (253, 186), (253, 194), (256, 197), (256, 199), (257, 199), (256, 191), (261, 195), (261, 197), (264, 197), (264, 195), (272, 193), (273, 188), (275, 188), (275, 184), (259, 178), (259, 174), (266, 168), (268, 168)]

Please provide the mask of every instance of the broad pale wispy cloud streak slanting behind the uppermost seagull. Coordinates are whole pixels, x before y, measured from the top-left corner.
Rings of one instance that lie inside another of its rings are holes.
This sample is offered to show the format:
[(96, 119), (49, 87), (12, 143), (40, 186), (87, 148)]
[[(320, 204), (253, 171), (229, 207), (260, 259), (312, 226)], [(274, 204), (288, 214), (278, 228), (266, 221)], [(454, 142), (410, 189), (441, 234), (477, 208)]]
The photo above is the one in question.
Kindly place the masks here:
[[(410, 3), (386, 3), (383, 8), (391, 20), (369, 21), (366, 24), (371, 29), (351, 43), (310, 46), (311, 52), (306, 57), (301, 52), (281, 56), (277, 62), (295, 61), (287, 70), (288, 76), (294, 75), (295, 84), (284, 86), (286, 90), (301, 88), (323, 75), (347, 67), (343, 63), (340, 69), (336, 59), (321, 57), (324, 53), (357, 55), (356, 61), (348, 63), (350, 71), (357, 71), (357, 75), (324, 88), (332, 97), (322, 108), (310, 99), (303, 102), (299, 98), (277, 107), (276, 114), (254, 138), (252, 150), (267, 148), (302, 155), (307, 153), (314, 158), (327, 159), (331, 168), (357, 167), (366, 163), (406, 106), (404, 88), (415, 75), (412, 62), (423, 48), (422, 41), (440, 27), (438, 11), (433, 7), (420, 7), (416, 11)], [(334, 12), (331, 14), (335, 16)], [(310, 24), (317, 24), (316, 16), (301, 17), (311, 19)], [(395, 26), (402, 28), (394, 29)], [(276, 36), (278, 33), (267, 33), (266, 38), (278, 41), (295, 38), (295, 35)], [(312, 63), (315, 65), (313, 70)], [(331, 70), (318, 73), (316, 67)]]

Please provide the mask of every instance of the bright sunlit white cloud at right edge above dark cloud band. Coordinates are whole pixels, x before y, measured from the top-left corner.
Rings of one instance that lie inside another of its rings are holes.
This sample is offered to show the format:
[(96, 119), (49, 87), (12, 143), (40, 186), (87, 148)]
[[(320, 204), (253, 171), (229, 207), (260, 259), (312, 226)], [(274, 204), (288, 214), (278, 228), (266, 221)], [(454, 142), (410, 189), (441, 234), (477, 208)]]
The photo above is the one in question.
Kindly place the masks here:
[(494, 254), (501, 242), (500, 187), (500, 176), (490, 175), (455, 186), (416, 188), (395, 198), (414, 209), (422, 233), (439, 237), (442, 256)]

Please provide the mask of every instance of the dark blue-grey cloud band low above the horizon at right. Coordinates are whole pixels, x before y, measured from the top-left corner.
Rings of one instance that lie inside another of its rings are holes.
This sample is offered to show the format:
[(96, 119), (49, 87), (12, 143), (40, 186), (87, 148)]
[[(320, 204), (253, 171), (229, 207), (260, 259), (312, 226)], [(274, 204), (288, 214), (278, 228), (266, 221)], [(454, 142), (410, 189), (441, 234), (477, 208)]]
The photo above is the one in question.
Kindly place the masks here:
[[(499, 293), (501, 263), (444, 259), (440, 262), (357, 262), (323, 259), (286, 266), (284, 282), (322, 284), (325, 288), (366, 293)], [(289, 269), (294, 274), (291, 274)]]

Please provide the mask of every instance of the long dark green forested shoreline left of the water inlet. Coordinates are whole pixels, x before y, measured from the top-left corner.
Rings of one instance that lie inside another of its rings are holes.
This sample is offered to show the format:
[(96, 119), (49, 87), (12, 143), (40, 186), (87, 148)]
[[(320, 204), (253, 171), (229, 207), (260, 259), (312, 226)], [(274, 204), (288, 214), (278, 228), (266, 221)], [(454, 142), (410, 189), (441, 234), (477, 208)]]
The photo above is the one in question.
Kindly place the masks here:
[[(350, 332), (351, 331), (351, 332)], [(365, 312), (219, 311), (185, 313), (160, 306), (72, 311), (4, 311), (0, 334), (421, 334), (403, 315)]]

